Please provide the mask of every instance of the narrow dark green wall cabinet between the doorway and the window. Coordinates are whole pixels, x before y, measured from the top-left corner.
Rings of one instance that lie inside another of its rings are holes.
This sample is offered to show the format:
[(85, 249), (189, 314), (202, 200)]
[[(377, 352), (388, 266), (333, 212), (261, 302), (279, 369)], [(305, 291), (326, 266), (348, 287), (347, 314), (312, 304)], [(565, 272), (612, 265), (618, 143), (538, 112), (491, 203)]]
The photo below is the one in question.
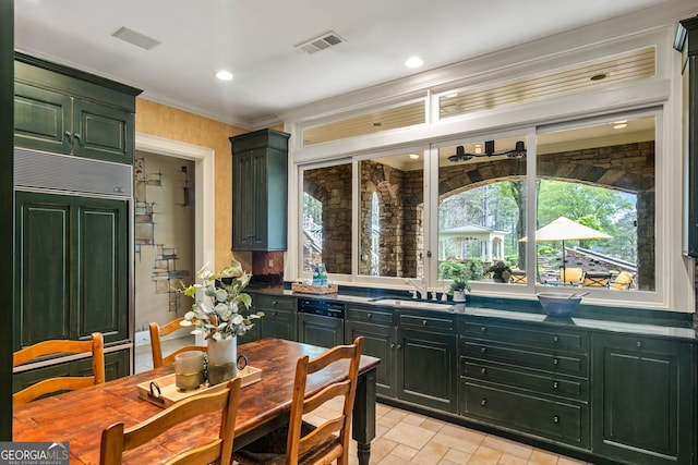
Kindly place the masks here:
[(286, 250), (288, 138), (274, 130), (230, 137), (233, 250)]

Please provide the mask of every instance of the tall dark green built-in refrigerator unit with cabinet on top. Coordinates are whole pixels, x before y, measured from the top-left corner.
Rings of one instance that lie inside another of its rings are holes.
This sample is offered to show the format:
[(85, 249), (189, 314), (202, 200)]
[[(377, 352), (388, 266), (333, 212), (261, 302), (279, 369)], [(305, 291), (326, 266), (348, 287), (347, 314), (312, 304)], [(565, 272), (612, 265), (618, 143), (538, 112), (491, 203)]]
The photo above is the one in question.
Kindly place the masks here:
[[(14, 53), (13, 351), (99, 331), (108, 378), (130, 372), (140, 93)], [(85, 369), (62, 357), (17, 367), (13, 390)]]

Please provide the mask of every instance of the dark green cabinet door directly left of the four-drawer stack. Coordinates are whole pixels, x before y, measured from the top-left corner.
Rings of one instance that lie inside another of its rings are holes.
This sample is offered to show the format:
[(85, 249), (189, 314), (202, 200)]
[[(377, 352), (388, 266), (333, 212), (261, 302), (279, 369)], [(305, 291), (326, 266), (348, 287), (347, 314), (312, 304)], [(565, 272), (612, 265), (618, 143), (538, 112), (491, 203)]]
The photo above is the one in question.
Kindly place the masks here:
[(397, 348), (398, 399), (456, 413), (456, 335), (400, 328)]

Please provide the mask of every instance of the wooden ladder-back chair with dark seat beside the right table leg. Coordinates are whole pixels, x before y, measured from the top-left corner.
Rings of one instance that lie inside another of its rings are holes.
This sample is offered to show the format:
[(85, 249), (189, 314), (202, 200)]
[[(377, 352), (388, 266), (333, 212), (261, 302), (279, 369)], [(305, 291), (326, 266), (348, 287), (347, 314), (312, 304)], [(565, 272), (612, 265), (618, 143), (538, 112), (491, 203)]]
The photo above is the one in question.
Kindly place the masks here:
[[(347, 465), (362, 343), (363, 338), (357, 338), (353, 344), (335, 346), (313, 359), (308, 356), (300, 358), (296, 365), (289, 425), (244, 446), (236, 452), (233, 458), (241, 465), (321, 465), (334, 461), (338, 465)], [(347, 376), (314, 395), (306, 395), (308, 377), (339, 360), (349, 360)], [(338, 416), (316, 427), (303, 421), (304, 415), (337, 396), (344, 397), (342, 411)]]

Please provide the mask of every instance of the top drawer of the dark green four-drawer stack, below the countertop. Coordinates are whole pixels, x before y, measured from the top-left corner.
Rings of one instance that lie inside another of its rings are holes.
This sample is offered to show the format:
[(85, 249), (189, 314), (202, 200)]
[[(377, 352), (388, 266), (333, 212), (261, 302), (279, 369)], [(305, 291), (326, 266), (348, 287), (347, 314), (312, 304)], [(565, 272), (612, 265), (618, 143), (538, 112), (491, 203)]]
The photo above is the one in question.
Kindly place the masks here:
[(465, 321), (461, 334), (471, 339), (506, 342), (533, 347), (587, 352), (589, 339), (586, 332), (538, 328), (528, 325), (506, 325), (491, 321)]

